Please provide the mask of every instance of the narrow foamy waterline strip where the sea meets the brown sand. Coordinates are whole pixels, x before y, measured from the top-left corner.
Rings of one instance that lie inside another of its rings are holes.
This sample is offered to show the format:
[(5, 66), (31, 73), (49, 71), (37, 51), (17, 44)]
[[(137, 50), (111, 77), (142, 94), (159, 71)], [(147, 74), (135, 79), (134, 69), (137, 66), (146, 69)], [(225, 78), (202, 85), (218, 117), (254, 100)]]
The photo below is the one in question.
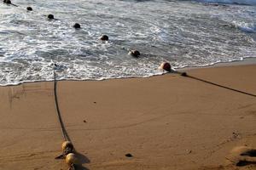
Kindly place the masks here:
[[(195, 67), (183, 67), (183, 68), (179, 68), (179, 69), (175, 69), (176, 71), (189, 71), (189, 70), (194, 70), (194, 69), (204, 69), (204, 68), (214, 68), (214, 67), (222, 67), (222, 66), (235, 66), (235, 65), (255, 65), (256, 64), (256, 57), (249, 57), (249, 58), (245, 58), (243, 60), (234, 60), (234, 61), (230, 61), (230, 62), (219, 62), (219, 63), (215, 63), (212, 65), (206, 65), (206, 66), (195, 66)], [(172, 65), (172, 63), (171, 63)], [(148, 77), (159, 77), (159, 76), (163, 76), (169, 74), (168, 72), (163, 72), (162, 74), (159, 75), (153, 75), (153, 76), (148, 76)], [(82, 81), (82, 82), (86, 82), (86, 81), (108, 81), (108, 80), (115, 80), (115, 79), (129, 79), (129, 78), (148, 78), (148, 77), (113, 77), (113, 78), (103, 78), (100, 80), (96, 80), (96, 79), (60, 79), (58, 81)], [(13, 84), (4, 84), (4, 85), (0, 85), (0, 87), (8, 87), (8, 86), (19, 86), (20, 84), (23, 83), (33, 83), (33, 82), (53, 82), (53, 80), (49, 80), (49, 81), (45, 81), (45, 80), (38, 80), (38, 81), (24, 81), (24, 82), (17, 82), (17, 83), (13, 83)]]

